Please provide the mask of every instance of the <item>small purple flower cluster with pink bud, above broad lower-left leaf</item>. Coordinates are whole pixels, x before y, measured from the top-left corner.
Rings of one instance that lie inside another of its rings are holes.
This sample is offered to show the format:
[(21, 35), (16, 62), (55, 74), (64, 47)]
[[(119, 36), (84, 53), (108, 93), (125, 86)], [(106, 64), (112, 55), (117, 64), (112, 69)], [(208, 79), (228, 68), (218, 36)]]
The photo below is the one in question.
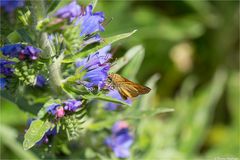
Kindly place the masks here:
[(81, 101), (69, 99), (62, 104), (53, 103), (47, 108), (47, 112), (57, 118), (63, 117), (67, 112), (75, 112), (82, 105)]

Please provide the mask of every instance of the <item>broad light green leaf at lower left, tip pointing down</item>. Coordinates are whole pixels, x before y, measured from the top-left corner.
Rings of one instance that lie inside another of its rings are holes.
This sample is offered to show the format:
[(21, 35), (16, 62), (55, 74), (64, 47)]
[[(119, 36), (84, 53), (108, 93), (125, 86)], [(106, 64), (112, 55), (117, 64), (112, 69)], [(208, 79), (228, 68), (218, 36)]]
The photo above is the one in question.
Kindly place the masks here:
[(44, 134), (52, 127), (52, 123), (48, 121), (35, 120), (31, 123), (29, 129), (24, 135), (23, 149), (27, 150), (33, 147), (42, 139)]

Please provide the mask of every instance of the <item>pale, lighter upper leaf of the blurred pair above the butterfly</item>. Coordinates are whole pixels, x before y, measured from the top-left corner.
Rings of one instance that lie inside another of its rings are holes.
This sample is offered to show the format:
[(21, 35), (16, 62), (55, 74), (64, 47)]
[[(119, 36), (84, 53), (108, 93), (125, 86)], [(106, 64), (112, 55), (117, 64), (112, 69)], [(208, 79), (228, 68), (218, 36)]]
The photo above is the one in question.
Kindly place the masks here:
[(116, 65), (111, 67), (110, 72), (116, 73), (138, 54), (144, 54), (144, 48), (142, 45), (137, 45), (129, 49), (123, 57), (115, 62)]

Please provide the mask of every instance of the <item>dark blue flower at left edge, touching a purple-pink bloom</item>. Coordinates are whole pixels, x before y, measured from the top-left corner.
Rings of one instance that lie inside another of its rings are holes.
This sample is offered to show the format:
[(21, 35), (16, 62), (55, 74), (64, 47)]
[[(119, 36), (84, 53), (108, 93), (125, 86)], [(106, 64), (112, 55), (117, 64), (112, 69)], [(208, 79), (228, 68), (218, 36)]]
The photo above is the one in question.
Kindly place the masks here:
[(9, 56), (11, 58), (18, 57), (19, 54), (24, 50), (24, 45), (22, 44), (7, 44), (0, 49), (4, 56)]

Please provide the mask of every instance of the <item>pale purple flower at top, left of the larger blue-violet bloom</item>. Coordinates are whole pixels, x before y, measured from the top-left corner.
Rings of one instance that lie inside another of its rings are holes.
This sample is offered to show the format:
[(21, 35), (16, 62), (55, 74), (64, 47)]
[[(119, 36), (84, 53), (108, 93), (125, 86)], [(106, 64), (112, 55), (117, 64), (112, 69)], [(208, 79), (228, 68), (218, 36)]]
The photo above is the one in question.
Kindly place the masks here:
[(72, 21), (75, 17), (81, 15), (81, 7), (77, 4), (76, 1), (71, 2), (69, 5), (60, 8), (55, 16), (59, 18), (68, 18)]

